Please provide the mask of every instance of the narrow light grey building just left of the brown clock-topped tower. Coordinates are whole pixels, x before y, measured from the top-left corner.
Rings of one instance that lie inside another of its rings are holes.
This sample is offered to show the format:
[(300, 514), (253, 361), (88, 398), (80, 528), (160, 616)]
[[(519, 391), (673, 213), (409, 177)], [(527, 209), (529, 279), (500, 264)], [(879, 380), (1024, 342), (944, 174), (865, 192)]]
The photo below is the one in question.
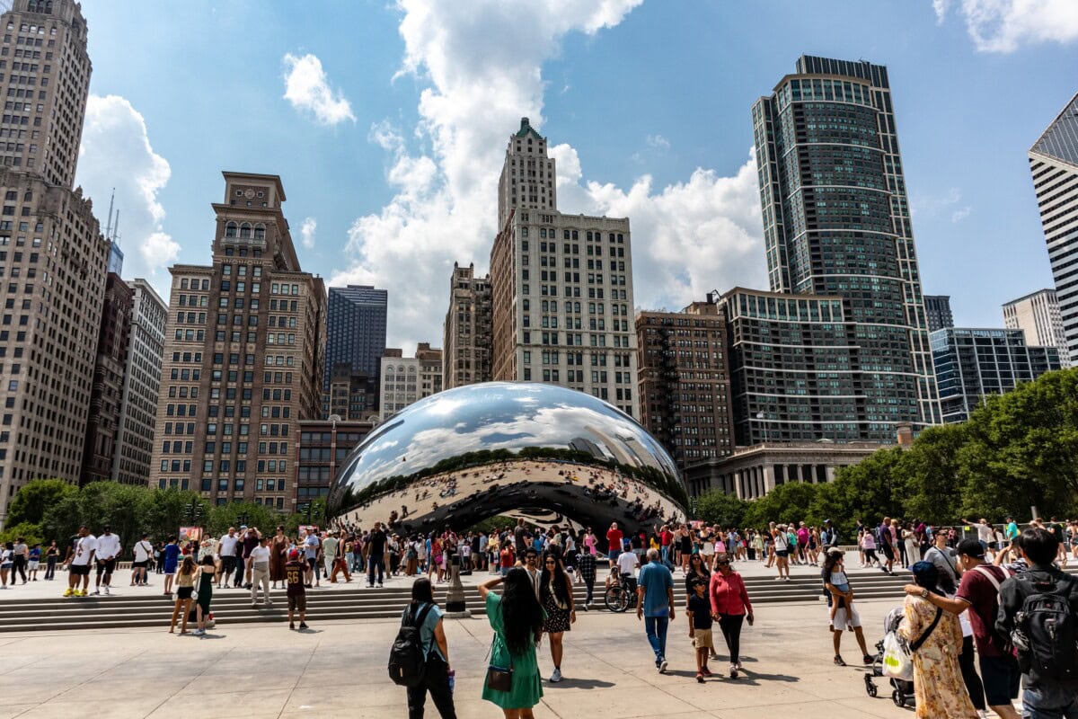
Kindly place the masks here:
[(165, 351), (168, 305), (144, 279), (128, 282), (132, 290), (130, 330), (124, 384), (116, 423), (112, 480), (147, 484), (153, 459), (153, 431), (161, 393), (161, 358)]

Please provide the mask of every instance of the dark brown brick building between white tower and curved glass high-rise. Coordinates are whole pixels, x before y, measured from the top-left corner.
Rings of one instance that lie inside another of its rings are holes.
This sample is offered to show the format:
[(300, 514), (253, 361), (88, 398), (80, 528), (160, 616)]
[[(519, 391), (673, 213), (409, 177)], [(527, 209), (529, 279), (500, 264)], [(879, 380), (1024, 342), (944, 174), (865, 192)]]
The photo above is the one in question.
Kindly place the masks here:
[(734, 446), (725, 307), (636, 315), (640, 424), (682, 471)]

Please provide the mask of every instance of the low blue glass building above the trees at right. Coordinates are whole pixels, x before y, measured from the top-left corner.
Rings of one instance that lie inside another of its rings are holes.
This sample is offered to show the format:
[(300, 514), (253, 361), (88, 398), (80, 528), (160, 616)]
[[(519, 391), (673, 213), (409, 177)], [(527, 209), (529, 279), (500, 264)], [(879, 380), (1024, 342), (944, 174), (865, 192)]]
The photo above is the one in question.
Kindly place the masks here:
[(1025, 343), (1022, 330), (948, 328), (932, 332), (943, 421), (965, 421), (990, 395), (1060, 369), (1060, 350)]

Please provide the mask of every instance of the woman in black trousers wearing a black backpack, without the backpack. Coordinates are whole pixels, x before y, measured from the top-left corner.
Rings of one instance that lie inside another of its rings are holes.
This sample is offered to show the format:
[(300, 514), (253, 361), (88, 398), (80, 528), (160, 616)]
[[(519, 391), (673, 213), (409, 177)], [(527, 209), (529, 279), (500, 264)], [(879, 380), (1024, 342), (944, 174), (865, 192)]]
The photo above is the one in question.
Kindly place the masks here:
[(414, 687), (407, 688), (409, 719), (423, 719), (427, 692), (434, 702), (442, 719), (456, 719), (453, 706), (453, 688), (450, 683), (450, 645), (442, 625), (442, 609), (434, 604), (434, 591), (430, 579), (420, 577), (412, 584), (412, 602), (401, 613), (401, 624), (418, 624), (419, 644), (427, 658), (423, 678)]

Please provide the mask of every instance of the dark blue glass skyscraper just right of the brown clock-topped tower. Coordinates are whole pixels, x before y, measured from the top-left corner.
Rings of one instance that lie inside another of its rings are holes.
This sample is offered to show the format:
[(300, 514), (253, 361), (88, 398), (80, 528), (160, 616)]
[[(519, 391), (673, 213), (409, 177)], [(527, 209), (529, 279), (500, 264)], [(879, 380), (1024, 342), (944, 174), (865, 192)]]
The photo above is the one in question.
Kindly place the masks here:
[(322, 389), (329, 391), (333, 368), (349, 364), (374, 378), (386, 350), (386, 308), (389, 293), (368, 285), (331, 287), (326, 316), (326, 368)]

